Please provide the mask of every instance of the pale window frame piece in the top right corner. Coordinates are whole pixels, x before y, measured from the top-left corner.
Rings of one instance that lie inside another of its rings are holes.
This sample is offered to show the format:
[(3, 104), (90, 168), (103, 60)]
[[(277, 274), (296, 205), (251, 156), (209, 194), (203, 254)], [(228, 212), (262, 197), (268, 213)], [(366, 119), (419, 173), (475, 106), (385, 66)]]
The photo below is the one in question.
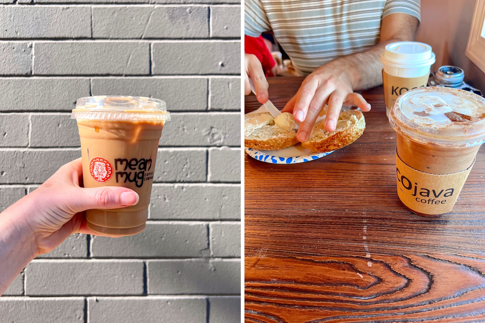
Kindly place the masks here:
[(485, 73), (485, 0), (477, 0), (465, 55)]

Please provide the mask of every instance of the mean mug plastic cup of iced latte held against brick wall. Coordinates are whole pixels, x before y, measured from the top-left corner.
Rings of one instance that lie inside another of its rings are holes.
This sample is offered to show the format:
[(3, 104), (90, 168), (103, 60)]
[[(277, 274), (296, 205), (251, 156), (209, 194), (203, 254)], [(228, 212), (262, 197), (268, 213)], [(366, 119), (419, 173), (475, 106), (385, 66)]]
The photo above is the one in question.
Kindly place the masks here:
[(165, 102), (148, 97), (82, 97), (71, 118), (81, 137), (84, 187), (123, 186), (140, 196), (136, 205), (87, 210), (97, 233), (129, 236), (145, 229)]

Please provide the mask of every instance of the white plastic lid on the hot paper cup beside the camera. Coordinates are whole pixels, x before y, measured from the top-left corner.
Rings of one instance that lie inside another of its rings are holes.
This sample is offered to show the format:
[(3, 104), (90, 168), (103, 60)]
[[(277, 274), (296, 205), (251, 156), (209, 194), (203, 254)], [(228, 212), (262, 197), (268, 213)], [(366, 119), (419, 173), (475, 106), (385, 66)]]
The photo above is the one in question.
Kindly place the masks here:
[(382, 64), (398, 68), (420, 68), (435, 63), (431, 46), (419, 42), (397, 42), (386, 45), (381, 54)]

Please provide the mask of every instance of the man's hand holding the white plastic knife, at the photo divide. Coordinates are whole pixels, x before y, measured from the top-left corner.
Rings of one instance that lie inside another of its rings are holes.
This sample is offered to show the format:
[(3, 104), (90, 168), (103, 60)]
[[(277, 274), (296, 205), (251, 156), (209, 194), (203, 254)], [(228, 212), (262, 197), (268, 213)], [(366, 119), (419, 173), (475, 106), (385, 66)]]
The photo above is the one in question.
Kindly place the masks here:
[(264, 104), (268, 102), (268, 81), (264, 76), (263, 67), (259, 62), (258, 57), (253, 54), (244, 54), (244, 95), (247, 96), (251, 93), (251, 84), (249, 78), (254, 83), (256, 89), (256, 97), (259, 103)]

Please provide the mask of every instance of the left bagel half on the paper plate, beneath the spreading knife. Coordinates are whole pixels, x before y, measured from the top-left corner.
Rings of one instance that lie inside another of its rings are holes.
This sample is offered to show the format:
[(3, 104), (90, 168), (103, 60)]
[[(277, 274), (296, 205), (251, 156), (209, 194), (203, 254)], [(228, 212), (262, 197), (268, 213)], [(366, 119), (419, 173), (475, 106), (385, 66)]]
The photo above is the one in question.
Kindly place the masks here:
[[(267, 114), (267, 115), (264, 115)], [(268, 116), (269, 115), (269, 116)], [(244, 146), (262, 150), (277, 150), (298, 143), (296, 130), (281, 129), (270, 113), (244, 115)]]

